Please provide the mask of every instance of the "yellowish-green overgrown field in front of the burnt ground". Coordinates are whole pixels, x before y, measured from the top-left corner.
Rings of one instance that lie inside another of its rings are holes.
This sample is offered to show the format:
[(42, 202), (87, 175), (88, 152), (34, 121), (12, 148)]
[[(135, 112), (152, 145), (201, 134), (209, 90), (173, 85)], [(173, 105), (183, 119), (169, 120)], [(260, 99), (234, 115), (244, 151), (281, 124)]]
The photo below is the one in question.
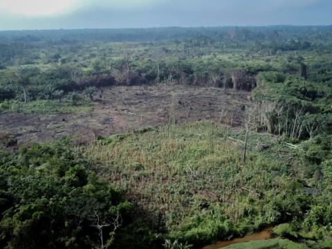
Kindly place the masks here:
[(230, 136), (213, 122), (167, 125), (97, 141), (85, 154), (156, 229), (175, 239), (185, 232), (192, 243), (235, 228), (244, 235), (277, 219), (266, 210), (288, 184), (286, 163), (252, 150), (243, 165), (241, 142)]

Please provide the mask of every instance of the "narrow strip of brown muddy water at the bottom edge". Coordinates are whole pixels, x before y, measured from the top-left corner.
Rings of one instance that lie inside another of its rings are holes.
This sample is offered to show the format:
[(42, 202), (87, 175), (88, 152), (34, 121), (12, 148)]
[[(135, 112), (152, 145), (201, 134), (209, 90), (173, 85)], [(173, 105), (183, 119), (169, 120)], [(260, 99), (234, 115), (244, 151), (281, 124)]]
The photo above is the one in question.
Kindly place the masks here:
[(247, 235), (246, 237), (243, 238), (232, 239), (230, 241), (217, 241), (216, 243), (210, 246), (204, 246), (202, 249), (218, 249), (218, 248), (223, 248), (225, 246), (230, 246), (234, 243), (243, 243), (243, 242), (261, 240), (261, 239), (271, 239), (273, 237), (271, 234), (273, 228), (274, 228), (273, 226), (270, 226), (268, 228), (265, 228), (261, 232), (255, 232), (254, 234)]

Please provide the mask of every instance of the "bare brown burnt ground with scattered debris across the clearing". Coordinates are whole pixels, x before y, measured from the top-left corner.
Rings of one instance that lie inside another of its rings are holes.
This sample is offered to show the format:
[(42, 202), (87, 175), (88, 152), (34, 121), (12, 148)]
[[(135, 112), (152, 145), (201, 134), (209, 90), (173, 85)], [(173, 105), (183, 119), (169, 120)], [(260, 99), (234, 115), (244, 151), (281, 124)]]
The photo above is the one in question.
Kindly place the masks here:
[[(100, 91), (100, 90), (99, 90)], [(18, 144), (48, 142), (71, 135), (79, 142), (142, 127), (194, 120), (241, 125), (249, 93), (223, 89), (157, 84), (112, 86), (95, 95), (91, 113), (1, 113), (0, 132)]]

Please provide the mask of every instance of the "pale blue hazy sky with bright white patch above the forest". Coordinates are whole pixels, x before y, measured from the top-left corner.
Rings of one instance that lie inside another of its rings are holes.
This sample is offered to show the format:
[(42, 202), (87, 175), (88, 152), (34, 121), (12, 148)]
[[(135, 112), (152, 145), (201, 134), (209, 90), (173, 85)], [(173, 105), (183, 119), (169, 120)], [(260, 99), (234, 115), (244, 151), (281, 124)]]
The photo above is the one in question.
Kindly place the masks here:
[(332, 0), (0, 0), (0, 30), (332, 25)]

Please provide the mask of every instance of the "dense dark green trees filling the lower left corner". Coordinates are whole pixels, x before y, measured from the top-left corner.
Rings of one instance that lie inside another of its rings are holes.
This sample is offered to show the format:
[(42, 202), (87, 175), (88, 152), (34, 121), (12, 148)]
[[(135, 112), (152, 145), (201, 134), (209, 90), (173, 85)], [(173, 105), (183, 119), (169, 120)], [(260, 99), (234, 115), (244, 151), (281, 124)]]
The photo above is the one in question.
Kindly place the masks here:
[[(1, 156), (1, 247), (91, 248), (99, 243), (95, 213), (110, 224), (116, 217), (129, 223), (131, 203), (91, 172), (70, 140)], [(104, 229), (104, 242), (118, 234), (114, 228)]]

